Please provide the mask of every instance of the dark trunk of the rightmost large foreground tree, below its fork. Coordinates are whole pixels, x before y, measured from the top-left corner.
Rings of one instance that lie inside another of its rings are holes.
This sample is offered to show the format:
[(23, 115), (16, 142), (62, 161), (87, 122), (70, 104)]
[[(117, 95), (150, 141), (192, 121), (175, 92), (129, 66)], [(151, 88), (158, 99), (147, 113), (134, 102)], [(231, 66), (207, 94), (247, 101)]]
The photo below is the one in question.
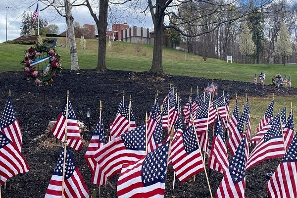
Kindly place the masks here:
[(163, 43), (163, 20), (154, 25), (152, 65), (149, 71), (156, 74), (164, 74), (162, 65), (162, 43)]

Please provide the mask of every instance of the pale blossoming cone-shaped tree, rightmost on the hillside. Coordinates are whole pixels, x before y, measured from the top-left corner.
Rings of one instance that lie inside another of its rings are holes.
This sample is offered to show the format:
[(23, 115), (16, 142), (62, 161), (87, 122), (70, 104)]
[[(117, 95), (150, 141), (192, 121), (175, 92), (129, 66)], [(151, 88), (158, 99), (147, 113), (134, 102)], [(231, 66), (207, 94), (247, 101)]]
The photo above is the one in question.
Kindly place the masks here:
[(281, 23), (280, 35), (276, 42), (277, 52), (279, 56), (283, 59), (283, 64), (285, 65), (286, 57), (293, 55), (292, 43), (290, 41), (291, 35), (286, 29), (285, 22)]

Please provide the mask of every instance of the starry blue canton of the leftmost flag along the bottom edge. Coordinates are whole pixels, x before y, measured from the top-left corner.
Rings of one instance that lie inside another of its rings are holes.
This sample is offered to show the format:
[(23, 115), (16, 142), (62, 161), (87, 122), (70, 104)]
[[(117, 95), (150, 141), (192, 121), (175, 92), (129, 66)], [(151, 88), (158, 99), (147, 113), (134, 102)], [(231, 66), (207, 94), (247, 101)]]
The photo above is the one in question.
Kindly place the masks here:
[[(56, 167), (54, 168), (53, 175), (63, 176), (63, 161), (64, 161), (64, 148), (61, 149)], [(65, 161), (65, 180), (69, 179), (76, 168), (75, 161), (66, 148), (66, 161)]]

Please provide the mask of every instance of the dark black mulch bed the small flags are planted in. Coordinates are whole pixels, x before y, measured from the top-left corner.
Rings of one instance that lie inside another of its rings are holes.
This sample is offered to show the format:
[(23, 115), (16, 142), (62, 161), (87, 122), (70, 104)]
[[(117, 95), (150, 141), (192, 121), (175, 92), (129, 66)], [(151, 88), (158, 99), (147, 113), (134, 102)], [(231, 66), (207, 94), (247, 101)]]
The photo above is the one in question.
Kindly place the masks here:
[[(65, 100), (66, 90), (70, 92), (70, 101), (74, 107), (77, 118), (88, 123), (86, 118), (86, 108), (91, 108), (91, 128), (95, 128), (99, 117), (99, 100), (103, 104), (103, 118), (105, 128), (108, 123), (115, 118), (122, 91), (126, 96), (132, 95), (132, 107), (138, 125), (145, 123), (145, 112), (150, 110), (154, 99), (154, 93), (160, 91), (160, 99), (163, 99), (168, 92), (169, 83), (173, 83), (180, 92), (183, 105), (190, 94), (190, 87), (194, 90), (197, 85), (202, 91), (211, 80), (191, 78), (183, 76), (160, 76), (147, 72), (129, 71), (108, 71), (98, 73), (94, 70), (83, 70), (79, 74), (70, 73), (63, 70), (57, 77), (56, 83), (52, 87), (36, 87), (33, 81), (27, 81), (23, 72), (3, 72), (0, 73), (0, 113), (7, 99), (8, 89), (12, 91), (15, 111), (23, 131), (23, 153), (28, 161), (31, 171), (27, 174), (17, 175), (7, 181), (7, 188), (3, 191), (6, 198), (39, 198), (44, 197), (49, 184), (52, 171), (55, 167), (61, 143), (56, 143), (50, 132), (46, 131), (49, 121), (56, 120), (61, 105)], [(229, 90), (231, 97), (235, 92), (239, 96), (266, 95), (297, 95), (296, 88), (276, 89), (273, 86), (258, 87), (254, 84), (236, 81), (215, 80), (218, 82), (219, 92), (224, 89)], [(196, 91), (195, 91), (196, 92)], [(220, 93), (219, 93), (220, 94)], [(126, 97), (126, 101), (128, 97)], [(83, 158), (92, 137), (92, 132), (81, 133), (84, 140), (84, 147), (80, 152), (71, 150), (76, 163), (91, 191), (96, 186), (91, 184), (91, 172)], [(106, 133), (106, 137), (108, 136)], [(266, 198), (266, 172), (273, 172), (280, 159), (269, 160), (247, 172), (247, 198)], [(116, 197), (117, 177), (113, 177), (110, 185), (101, 188), (102, 197)], [(213, 194), (215, 194), (222, 175), (212, 171), (210, 183)], [(182, 197), (209, 197), (204, 173), (193, 179), (180, 184), (177, 180), (175, 190), (172, 190), (173, 171), (169, 167), (166, 180), (167, 198)]]

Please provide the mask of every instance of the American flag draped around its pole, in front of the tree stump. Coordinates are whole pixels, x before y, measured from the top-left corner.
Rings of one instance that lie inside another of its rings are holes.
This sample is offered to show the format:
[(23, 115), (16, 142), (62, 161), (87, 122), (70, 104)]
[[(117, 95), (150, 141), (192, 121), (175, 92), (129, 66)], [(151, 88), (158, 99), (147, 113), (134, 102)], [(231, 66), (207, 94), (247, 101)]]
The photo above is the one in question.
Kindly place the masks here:
[[(65, 122), (66, 102), (63, 105), (62, 112), (59, 114), (57, 122), (51, 131), (51, 133), (62, 142), (65, 140)], [(70, 101), (68, 102), (67, 145), (75, 150), (80, 150), (83, 147), (78, 122)]]

